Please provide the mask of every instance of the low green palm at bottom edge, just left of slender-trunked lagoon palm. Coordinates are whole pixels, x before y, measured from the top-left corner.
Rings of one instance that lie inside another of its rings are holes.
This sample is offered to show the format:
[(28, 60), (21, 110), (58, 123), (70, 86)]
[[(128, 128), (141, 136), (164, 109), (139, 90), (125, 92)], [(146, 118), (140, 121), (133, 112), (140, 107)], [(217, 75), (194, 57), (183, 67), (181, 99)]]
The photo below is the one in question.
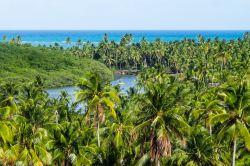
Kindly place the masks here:
[(84, 128), (77, 120), (63, 121), (60, 124), (50, 123), (47, 128), (53, 133), (53, 139), (48, 141), (48, 145), (54, 164), (93, 164), (97, 153), (96, 145), (90, 142), (93, 129)]

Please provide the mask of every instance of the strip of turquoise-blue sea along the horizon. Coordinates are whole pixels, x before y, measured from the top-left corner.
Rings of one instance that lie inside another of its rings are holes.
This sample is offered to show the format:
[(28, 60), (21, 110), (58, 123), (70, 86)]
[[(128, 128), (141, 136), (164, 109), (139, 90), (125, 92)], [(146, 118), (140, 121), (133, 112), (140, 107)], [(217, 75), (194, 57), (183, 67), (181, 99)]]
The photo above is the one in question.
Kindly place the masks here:
[[(65, 39), (70, 37), (72, 44), (75, 44), (77, 40), (82, 42), (90, 41), (92, 43), (98, 43), (102, 40), (104, 34), (108, 34), (110, 40), (119, 42), (121, 37), (126, 34), (133, 35), (133, 41), (139, 42), (142, 37), (145, 37), (148, 41), (154, 41), (160, 38), (163, 41), (182, 40), (184, 38), (197, 39), (199, 34), (205, 38), (215, 38), (231, 40), (242, 38), (246, 31), (0, 31), (0, 41), (2, 36), (6, 35), (7, 39), (11, 39), (18, 35), (21, 36), (23, 43), (31, 43), (33, 45), (53, 45), (55, 42), (61, 46), (66, 46)], [(250, 30), (249, 30), (250, 32)]]

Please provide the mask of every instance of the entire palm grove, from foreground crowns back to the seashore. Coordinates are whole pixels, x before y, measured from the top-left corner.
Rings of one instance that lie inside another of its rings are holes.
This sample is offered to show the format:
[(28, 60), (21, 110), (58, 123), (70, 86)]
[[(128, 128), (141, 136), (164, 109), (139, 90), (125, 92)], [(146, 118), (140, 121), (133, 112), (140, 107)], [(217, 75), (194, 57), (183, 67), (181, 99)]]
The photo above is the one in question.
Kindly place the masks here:
[[(2, 165), (250, 165), (250, 36), (223, 41), (120, 43), (65, 49), (139, 69), (126, 94), (98, 73), (77, 101), (43, 81), (0, 85)], [(70, 43), (70, 39), (67, 39)], [(52, 47), (51, 49), (60, 49)]]

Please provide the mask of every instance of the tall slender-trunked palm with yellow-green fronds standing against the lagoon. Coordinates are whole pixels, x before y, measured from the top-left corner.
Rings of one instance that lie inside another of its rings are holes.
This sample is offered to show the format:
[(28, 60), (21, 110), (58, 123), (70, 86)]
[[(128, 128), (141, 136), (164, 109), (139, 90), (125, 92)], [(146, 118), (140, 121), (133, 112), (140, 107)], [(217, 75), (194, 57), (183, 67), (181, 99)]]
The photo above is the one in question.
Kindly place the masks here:
[(97, 73), (88, 74), (88, 77), (82, 79), (77, 86), (80, 88), (76, 95), (77, 100), (87, 104), (85, 119), (94, 116), (92, 122), (96, 126), (97, 144), (100, 148), (100, 122), (104, 122), (106, 111), (111, 111), (116, 118), (115, 107), (119, 103), (119, 97), (111, 86), (101, 83)]

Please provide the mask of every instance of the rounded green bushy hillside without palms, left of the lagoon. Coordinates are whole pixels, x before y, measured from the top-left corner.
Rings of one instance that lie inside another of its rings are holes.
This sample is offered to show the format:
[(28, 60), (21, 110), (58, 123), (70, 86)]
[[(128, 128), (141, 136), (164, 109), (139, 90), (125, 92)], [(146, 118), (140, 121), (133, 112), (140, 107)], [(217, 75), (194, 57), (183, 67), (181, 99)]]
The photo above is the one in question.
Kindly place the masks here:
[(75, 84), (88, 71), (113, 79), (104, 64), (88, 58), (76, 58), (60, 49), (0, 43), (0, 82), (29, 82), (36, 76), (46, 87)]

